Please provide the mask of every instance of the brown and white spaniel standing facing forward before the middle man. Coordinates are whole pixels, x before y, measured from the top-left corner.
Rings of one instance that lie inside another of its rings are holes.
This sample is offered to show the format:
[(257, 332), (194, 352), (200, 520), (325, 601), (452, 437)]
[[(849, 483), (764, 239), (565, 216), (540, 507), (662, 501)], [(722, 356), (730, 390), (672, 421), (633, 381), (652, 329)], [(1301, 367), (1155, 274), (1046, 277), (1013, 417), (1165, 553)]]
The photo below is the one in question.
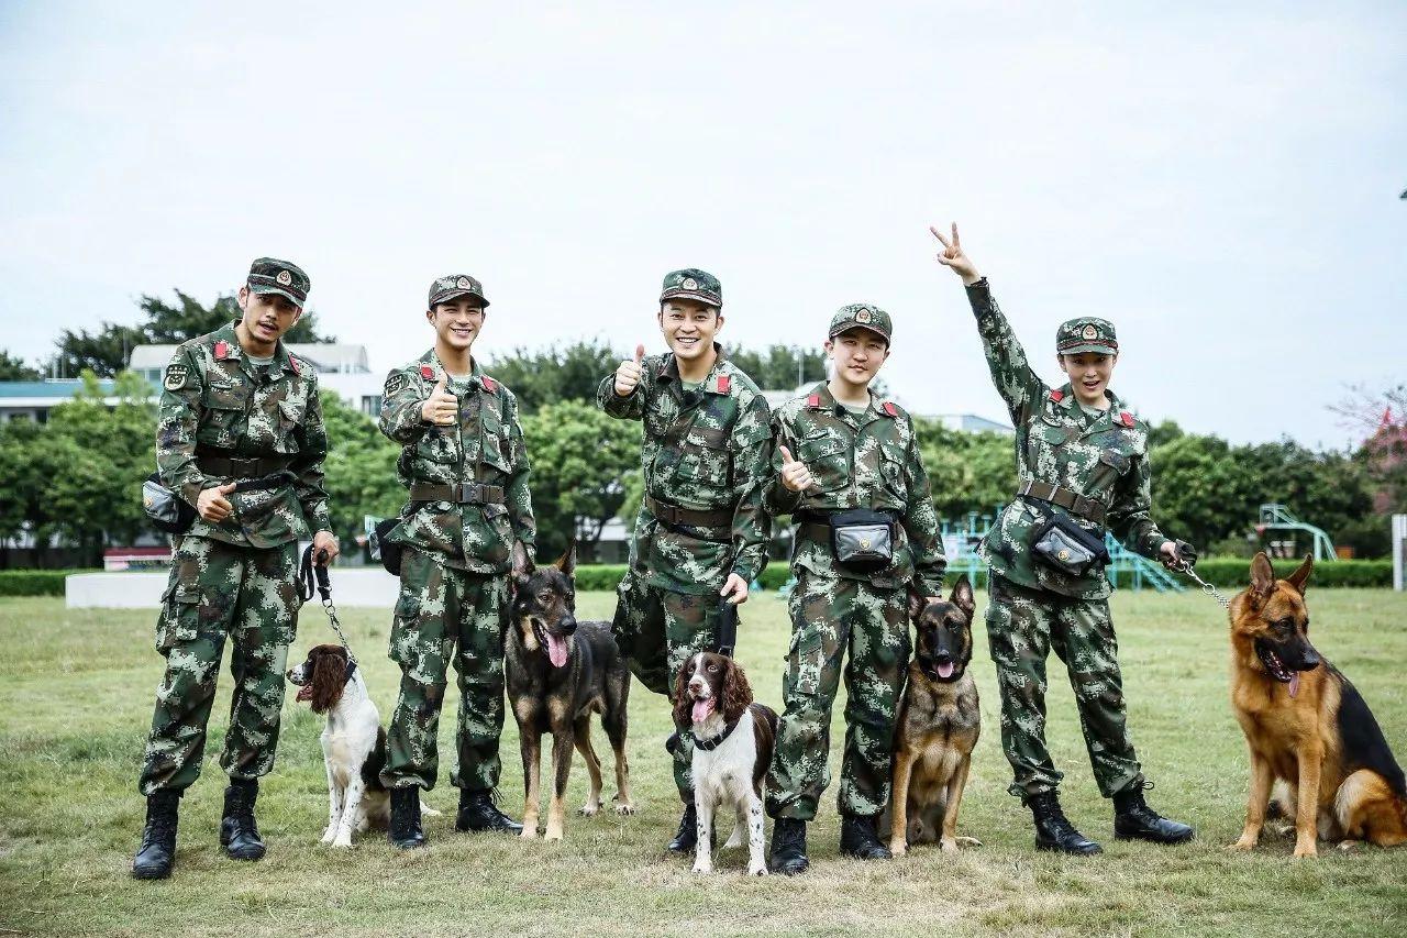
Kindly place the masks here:
[(763, 780), (772, 762), (777, 713), (753, 703), (753, 689), (737, 662), (699, 652), (684, 662), (674, 682), (674, 723), (694, 734), (694, 872), (713, 872), (713, 814), (732, 807), (737, 821), (723, 849), (740, 846), (746, 830), (747, 875), (765, 876)]

